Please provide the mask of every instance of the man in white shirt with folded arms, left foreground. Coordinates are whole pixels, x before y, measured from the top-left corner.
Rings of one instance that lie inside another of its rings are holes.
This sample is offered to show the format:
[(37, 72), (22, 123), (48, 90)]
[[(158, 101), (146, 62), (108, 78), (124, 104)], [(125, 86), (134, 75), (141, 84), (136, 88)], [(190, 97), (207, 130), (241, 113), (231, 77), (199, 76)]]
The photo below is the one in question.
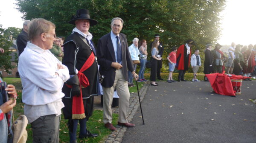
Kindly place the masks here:
[(49, 51), (55, 25), (42, 18), (32, 20), (29, 41), (19, 57), (24, 114), (32, 126), (33, 143), (58, 143), (63, 84), (69, 70)]

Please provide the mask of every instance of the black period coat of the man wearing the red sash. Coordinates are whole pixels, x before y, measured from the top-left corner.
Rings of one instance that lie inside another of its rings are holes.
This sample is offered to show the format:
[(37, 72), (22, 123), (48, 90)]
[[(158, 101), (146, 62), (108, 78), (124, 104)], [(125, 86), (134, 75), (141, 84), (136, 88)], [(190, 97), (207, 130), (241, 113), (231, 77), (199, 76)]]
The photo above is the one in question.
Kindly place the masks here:
[[(63, 64), (68, 67), (70, 75), (75, 75), (76, 69), (80, 70), (84, 65), (88, 57), (90, 56), (92, 50), (89, 45), (79, 37), (80, 34), (74, 32), (67, 37), (64, 43), (64, 57)], [(77, 52), (77, 53), (76, 53)], [(96, 56), (96, 55), (95, 55)], [(76, 60), (75, 60), (76, 59)], [(76, 67), (75, 66), (76, 62)], [(88, 87), (82, 88), (83, 103), (84, 103), (84, 113), (88, 119), (93, 113), (93, 95), (100, 94), (98, 87), (98, 64), (96, 60), (93, 64), (84, 72), (84, 75), (89, 80), (90, 85)], [(70, 76), (71, 77), (71, 76)], [(72, 101), (73, 98), (70, 95), (70, 88), (65, 84), (62, 88), (62, 92), (65, 96), (62, 101), (65, 105), (63, 108), (63, 114), (65, 119), (72, 119)]]

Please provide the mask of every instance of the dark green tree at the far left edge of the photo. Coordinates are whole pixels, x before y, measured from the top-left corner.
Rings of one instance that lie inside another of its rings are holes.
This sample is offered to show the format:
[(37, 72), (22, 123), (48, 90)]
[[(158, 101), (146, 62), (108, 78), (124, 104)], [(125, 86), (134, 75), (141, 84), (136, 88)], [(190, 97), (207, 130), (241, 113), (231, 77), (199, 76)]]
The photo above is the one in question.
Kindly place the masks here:
[(0, 53), (0, 69), (5, 69), (6, 71), (13, 68), (12, 57), (10, 56), (11, 51), (9, 51), (11, 45), (12, 41), (9, 39), (9, 35), (4, 34), (4, 29), (0, 25), (0, 48), (4, 49), (4, 53)]

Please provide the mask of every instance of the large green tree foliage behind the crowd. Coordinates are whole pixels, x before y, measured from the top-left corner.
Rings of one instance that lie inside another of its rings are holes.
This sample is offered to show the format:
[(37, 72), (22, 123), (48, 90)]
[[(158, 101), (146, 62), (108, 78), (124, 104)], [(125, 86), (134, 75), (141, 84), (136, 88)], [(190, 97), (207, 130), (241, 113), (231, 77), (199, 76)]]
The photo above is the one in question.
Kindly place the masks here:
[(164, 57), (172, 46), (184, 44), (187, 39), (193, 39), (198, 49), (203, 49), (206, 42), (217, 42), (221, 31), (220, 12), (226, 3), (226, 0), (16, 1), (24, 19), (41, 17), (50, 20), (55, 23), (58, 36), (71, 33), (74, 25), (67, 22), (77, 9), (90, 10), (90, 17), (99, 22), (90, 27), (95, 43), (111, 31), (111, 19), (121, 17), (125, 22), (122, 33), (127, 35), (128, 43), (138, 37), (150, 44), (154, 34), (158, 33), (165, 47)]

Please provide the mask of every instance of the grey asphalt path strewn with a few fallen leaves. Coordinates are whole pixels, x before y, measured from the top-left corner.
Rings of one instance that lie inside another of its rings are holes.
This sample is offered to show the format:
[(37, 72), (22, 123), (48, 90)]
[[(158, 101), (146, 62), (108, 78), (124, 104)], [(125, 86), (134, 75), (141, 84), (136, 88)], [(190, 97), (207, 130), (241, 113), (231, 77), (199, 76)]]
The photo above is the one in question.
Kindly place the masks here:
[(256, 143), (256, 81), (236, 97), (212, 93), (209, 82), (158, 82), (148, 87), (136, 126), (122, 143)]

